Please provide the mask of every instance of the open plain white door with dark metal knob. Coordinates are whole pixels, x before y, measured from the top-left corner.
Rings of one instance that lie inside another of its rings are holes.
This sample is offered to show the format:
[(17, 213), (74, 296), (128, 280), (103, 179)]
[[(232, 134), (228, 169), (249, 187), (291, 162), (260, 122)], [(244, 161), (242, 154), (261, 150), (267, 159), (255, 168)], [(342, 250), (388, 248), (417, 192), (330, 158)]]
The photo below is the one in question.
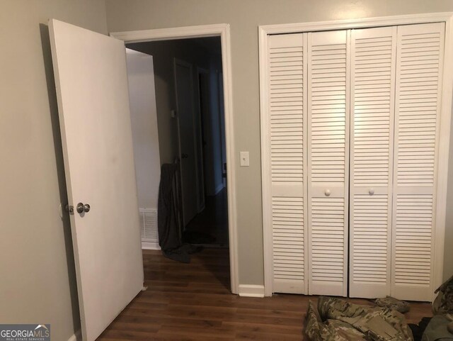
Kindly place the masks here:
[[(92, 341), (143, 285), (125, 46), (54, 19), (49, 26), (81, 330)], [(91, 209), (78, 213), (78, 203)]]

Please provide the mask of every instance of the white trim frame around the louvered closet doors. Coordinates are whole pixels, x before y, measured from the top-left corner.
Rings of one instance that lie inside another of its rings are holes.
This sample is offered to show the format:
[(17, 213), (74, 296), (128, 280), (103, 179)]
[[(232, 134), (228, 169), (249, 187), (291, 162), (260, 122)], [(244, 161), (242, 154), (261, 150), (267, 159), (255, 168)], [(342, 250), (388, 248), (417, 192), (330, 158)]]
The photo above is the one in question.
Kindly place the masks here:
[[(442, 108), (440, 113), (439, 159), (437, 161), (437, 195), (435, 209), (434, 269), (432, 287), (442, 284), (445, 218), (447, 214), (447, 178), (449, 159), (450, 123), (452, 116), (453, 93), (453, 12), (411, 14), (406, 16), (386, 16), (338, 21), (318, 21), (311, 23), (289, 23), (282, 25), (258, 26), (259, 67), (260, 67), (260, 125), (261, 125), (261, 177), (263, 191), (263, 250), (264, 250), (264, 290), (265, 296), (273, 294), (273, 239), (272, 207), (270, 206), (270, 158), (268, 147), (268, 35), (282, 33), (315, 32), (321, 30), (346, 30), (350, 28), (371, 28), (398, 26), (418, 23), (445, 22), (445, 57), (442, 75)], [(434, 294), (432, 296), (434, 298)]]

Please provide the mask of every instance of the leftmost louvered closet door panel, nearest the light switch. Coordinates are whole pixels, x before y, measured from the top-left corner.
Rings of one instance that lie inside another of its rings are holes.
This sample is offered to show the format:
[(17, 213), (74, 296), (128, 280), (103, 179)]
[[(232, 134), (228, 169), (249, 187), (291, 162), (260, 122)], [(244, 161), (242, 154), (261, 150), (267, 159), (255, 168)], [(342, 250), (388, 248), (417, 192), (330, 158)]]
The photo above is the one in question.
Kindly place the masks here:
[(305, 34), (268, 39), (273, 291), (306, 294)]

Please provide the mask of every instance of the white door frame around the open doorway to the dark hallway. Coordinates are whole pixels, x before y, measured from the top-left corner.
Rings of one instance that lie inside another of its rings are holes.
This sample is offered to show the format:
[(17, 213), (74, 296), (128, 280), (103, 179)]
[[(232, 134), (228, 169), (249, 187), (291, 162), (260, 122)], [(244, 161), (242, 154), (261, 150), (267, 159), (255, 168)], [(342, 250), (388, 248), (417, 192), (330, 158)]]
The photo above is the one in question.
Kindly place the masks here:
[(229, 24), (186, 26), (177, 28), (158, 28), (155, 30), (134, 30), (113, 32), (110, 36), (125, 43), (143, 43), (156, 40), (174, 40), (183, 38), (220, 37), (222, 43), (222, 72), (224, 74), (224, 113), (226, 135), (226, 163), (228, 164), (228, 225), (229, 225), (229, 260), (231, 292), (238, 294), (238, 249), (236, 226), (236, 177), (234, 160), (234, 124), (233, 97), (231, 83), (231, 40)]

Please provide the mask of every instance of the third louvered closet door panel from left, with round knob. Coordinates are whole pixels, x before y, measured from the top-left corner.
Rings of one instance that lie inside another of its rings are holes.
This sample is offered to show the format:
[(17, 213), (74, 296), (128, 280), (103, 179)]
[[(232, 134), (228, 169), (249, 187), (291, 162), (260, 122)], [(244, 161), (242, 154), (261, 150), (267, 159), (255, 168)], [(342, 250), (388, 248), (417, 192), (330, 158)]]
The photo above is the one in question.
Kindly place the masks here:
[(351, 297), (385, 297), (391, 278), (396, 27), (351, 32)]

